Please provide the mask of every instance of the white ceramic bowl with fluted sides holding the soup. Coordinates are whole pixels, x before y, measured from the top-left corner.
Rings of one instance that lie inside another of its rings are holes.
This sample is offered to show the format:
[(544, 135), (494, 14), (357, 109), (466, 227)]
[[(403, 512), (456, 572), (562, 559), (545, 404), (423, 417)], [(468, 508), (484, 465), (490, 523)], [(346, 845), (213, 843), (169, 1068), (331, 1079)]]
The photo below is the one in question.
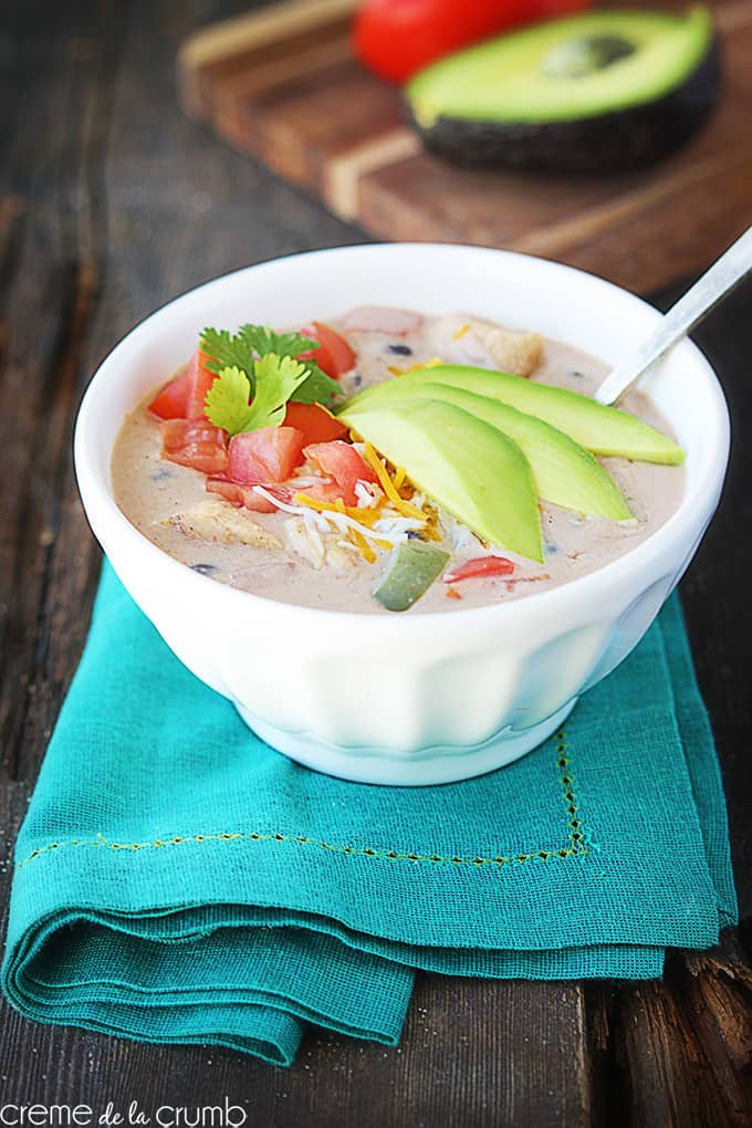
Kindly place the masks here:
[(263, 263), (170, 302), (109, 354), (78, 418), (79, 487), (132, 597), (188, 669), (264, 740), (348, 779), (446, 783), (536, 747), (639, 641), (718, 503), (726, 404), (699, 350), (689, 342), (674, 349), (646, 389), (688, 452), (679, 510), (605, 567), (506, 605), (391, 616), (294, 607), (198, 575), (138, 532), (113, 500), (113, 443), (124, 414), (185, 361), (200, 331), (327, 320), (359, 305), (468, 310), (610, 363), (658, 317), (601, 279), (478, 247), (357, 246)]

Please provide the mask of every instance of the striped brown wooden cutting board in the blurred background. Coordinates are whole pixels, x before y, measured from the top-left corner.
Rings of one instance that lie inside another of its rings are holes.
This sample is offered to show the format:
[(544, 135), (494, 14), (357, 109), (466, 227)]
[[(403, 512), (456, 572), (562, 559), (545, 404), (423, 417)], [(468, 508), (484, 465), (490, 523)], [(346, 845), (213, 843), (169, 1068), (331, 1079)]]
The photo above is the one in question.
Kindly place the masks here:
[(354, 59), (354, 0), (295, 0), (210, 26), (178, 72), (185, 109), (387, 239), (529, 252), (649, 293), (702, 270), (752, 223), (752, 0), (714, 8), (723, 96), (648, 170), (551, 177), (468, 170), (424, 152), (399, 92)]

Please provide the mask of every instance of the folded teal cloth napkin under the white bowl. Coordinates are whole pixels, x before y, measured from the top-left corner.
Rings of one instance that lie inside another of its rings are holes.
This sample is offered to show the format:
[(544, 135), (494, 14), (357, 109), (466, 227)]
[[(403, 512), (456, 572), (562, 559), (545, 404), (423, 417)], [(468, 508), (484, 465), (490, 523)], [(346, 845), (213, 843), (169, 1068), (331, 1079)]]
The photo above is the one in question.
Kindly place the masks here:
[(647, 978), (736, 917), (675, 598), (531, 755), (375, 787), (256, 739), (106, 565), (16, 860), (19, 1011), (283, 1065), (307, 1023), (395, 1045), (416, 968)]

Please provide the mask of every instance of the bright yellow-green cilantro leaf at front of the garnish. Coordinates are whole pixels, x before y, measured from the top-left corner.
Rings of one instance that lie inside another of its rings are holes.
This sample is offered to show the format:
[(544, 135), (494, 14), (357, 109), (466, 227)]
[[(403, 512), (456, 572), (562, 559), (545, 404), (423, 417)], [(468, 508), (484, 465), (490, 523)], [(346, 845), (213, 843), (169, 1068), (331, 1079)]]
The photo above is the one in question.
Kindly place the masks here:
[(255, 391), (249, 404), (251, 389), (247, 374), (237, 365), (223, 368), (206, 393), (206, 416), (231, 435), (280, 426), (287, 400), (308, 376), (306, 365), (292, 356), (267, 353), (254, 361)]

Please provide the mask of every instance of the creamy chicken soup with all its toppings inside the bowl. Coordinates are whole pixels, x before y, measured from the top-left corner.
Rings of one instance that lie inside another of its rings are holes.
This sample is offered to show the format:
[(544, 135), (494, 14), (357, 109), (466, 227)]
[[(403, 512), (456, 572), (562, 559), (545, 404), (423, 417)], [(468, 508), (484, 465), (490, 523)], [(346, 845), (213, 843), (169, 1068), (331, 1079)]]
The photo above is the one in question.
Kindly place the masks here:
[(268, 599), (375, 614), (520, 599), (629, 552), (681, 501), (665, 421), (640, 393), (596, 404), (605, 373), (465, 314), (206, 329), (126, 417), (115, 497), (170, 556)]

